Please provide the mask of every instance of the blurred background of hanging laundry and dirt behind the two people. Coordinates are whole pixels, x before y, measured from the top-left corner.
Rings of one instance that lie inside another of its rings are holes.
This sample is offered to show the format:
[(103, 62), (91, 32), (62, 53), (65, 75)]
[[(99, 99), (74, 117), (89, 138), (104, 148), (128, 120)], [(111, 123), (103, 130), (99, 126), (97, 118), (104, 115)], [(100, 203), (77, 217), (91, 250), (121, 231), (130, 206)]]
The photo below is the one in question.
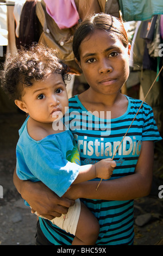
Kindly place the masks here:
[[(67, 22), (68, 25), (63, 25), (66, 26), (64, 28), (59, 27), (51, 15), (54, 2), (55, 0), (0, 1), (0, 68), (3, 69), (3, 63), (9, 53), (21, 50), (22, 47), (28, 48), (33, 42), (41, 42), (48, 47), (57, 48), (60, 58), (64, 59), (70, 68), (68, 97), (82, 93), (89, 86), (74, 62), (74, 29), (88, 15), (105, 12), (116, 17), (121, 16), (131, 44), (130, 75), (122, 93), (143, 100), (163, 64), (162, 0), (74, 0), (79, 19), (73, 25)], [(64, 8), (66, 4), (63, 5)], [(153, 108), (161, 136), (162, 79), (163, 72), (146, 98), (146, 102)], [(3, 187), (3, 198), (0, 194), (0, 245), (35, 244), (36, 217), (24, 205), (12, 182), (18, 130), (25, 119), (26, 114), (9, 100), (0, 87), (0, 186)], [(151, 194), (135, 200), (135, 245), (155, 245), (163, 237), (162, 155), (163, 144), (156, 143)]]

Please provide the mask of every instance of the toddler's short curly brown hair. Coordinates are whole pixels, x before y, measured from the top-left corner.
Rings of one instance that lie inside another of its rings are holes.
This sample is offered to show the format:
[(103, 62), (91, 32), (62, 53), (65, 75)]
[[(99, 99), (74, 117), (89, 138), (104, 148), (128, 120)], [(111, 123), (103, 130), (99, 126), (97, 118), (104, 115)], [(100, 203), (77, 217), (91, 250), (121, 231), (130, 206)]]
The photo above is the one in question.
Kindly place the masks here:
[(1, 72), (2, 88), (13, 99), (21, 99), (23, 88), (30, 87), (35, 81), (42, 81), (49, 73), (62, 75), (68, 81), (67, 65), (57, 57), (57, 51), (37, 44), (29, 50), (18, 50), (10, 54)]

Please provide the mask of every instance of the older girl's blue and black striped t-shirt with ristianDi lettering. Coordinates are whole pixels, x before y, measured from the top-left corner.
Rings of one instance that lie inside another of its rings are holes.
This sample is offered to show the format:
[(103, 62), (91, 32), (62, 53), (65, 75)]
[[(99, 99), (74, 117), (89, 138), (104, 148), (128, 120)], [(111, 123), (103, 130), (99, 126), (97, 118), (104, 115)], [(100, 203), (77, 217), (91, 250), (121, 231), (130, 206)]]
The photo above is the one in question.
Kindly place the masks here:
[[(121, 117), (103, 119), (87, 112), (78, 96), (69, 100), (69, 109), (65, 114), (65, 124), (70, 125), (78, 145), (82, 165), (96, 163), (104, 158), (111, 158), (123, 136), (133, 121), (141, 100), (128, 99), (128, 108)], [(97, 113), (96, 113), (97, 115)], [(131, 125), (123, 143), (118, 149), (114, 161), (117, 166), (110, 179), (118, 179), (134, 174), (140, 155), (142, 141), (159, 141), (161, 139), (153, 117), (153, 111), (143, 103)], [(96, 179), (97, 180), (97, 179)], [(97, 217), (100, 224), (96, 245), (131, 245), (134, 241), (134, 202), (133, 200), (92, 200), (82, 199)], [(55, 245), (71, 245), (73, 235), (54, 228), (46, 220), (40, 220), (40, 226), (47, 239)]]

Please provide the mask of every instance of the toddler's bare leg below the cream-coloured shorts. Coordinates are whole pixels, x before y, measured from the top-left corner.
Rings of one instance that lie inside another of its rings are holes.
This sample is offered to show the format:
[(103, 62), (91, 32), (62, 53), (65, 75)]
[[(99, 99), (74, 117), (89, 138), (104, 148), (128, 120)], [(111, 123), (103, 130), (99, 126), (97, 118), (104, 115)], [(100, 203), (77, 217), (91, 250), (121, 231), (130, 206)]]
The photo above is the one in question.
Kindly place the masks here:
[(92, 212), (81, 202), (81, 211), (72, 245), (95, 245), (99, 234), (99, 223)]

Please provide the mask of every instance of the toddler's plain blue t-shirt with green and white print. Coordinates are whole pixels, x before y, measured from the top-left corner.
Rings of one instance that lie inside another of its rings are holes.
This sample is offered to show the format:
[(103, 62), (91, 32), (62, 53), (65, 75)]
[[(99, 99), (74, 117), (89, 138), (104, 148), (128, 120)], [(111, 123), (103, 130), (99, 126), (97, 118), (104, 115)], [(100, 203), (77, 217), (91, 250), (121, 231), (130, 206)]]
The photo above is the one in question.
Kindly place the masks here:
[(76, 142), (70, 130), (35, 141), (27, 131), (28, 118), (19, 131), (17, 175), (21, 180), (42, 181), (61, 197), (79, 173), (80, 157)]

